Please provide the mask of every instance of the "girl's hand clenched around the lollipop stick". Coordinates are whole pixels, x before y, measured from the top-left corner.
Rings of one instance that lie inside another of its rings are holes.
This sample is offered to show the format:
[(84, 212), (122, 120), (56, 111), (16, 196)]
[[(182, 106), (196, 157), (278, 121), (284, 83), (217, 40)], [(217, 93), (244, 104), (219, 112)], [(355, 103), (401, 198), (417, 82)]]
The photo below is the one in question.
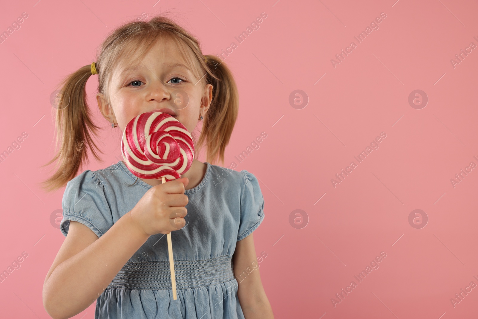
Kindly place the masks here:
[(184, 194), (187, 177), (151, 187), (131, 209), (131, 219), (148, 236), (182, 229), (189, 198)]

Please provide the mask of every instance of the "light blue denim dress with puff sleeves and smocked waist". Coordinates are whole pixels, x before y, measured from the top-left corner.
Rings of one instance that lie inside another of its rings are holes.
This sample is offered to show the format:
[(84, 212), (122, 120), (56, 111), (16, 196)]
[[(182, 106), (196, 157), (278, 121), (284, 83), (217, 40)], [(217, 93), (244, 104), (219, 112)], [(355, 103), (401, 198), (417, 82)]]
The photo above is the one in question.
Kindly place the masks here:
[[(185, 190), (186, 226), (171, 232), (177, 299), (173, 298), (166, 235), (157, 234), (134, 253), (96, 301), (95, 318), (243, 319), (232, 256), (264, 219), (257, 178), (206, 162), (206, 175)], [(62, 233), (69, 222), (98, 237), (130, 211), (152, 186), (122, 161), (70, 180), (63, 195)], [(133, 184), (134, 183), (134, 184)], [(133, 185), (131, 185), (133, 184)]]

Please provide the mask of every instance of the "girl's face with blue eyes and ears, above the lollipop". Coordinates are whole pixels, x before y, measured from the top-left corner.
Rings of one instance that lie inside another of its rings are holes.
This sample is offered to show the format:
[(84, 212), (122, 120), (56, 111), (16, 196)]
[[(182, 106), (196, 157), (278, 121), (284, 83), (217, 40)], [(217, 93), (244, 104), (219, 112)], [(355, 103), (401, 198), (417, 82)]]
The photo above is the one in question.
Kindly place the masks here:
[(118, 67), (114, 71), (109, 86), (112, 112), (104, 96), (97, 94), (103, 116), (110, 123), (118, 123), (123, 132), (137, 115), (168, 109), (193, 132), (199, 113), (204, 116), (209, 109), (212, 85), (200, 86), (199, 78), (188, 70), (171, 41), (158, 41), (136, 66), (136, 70)]

